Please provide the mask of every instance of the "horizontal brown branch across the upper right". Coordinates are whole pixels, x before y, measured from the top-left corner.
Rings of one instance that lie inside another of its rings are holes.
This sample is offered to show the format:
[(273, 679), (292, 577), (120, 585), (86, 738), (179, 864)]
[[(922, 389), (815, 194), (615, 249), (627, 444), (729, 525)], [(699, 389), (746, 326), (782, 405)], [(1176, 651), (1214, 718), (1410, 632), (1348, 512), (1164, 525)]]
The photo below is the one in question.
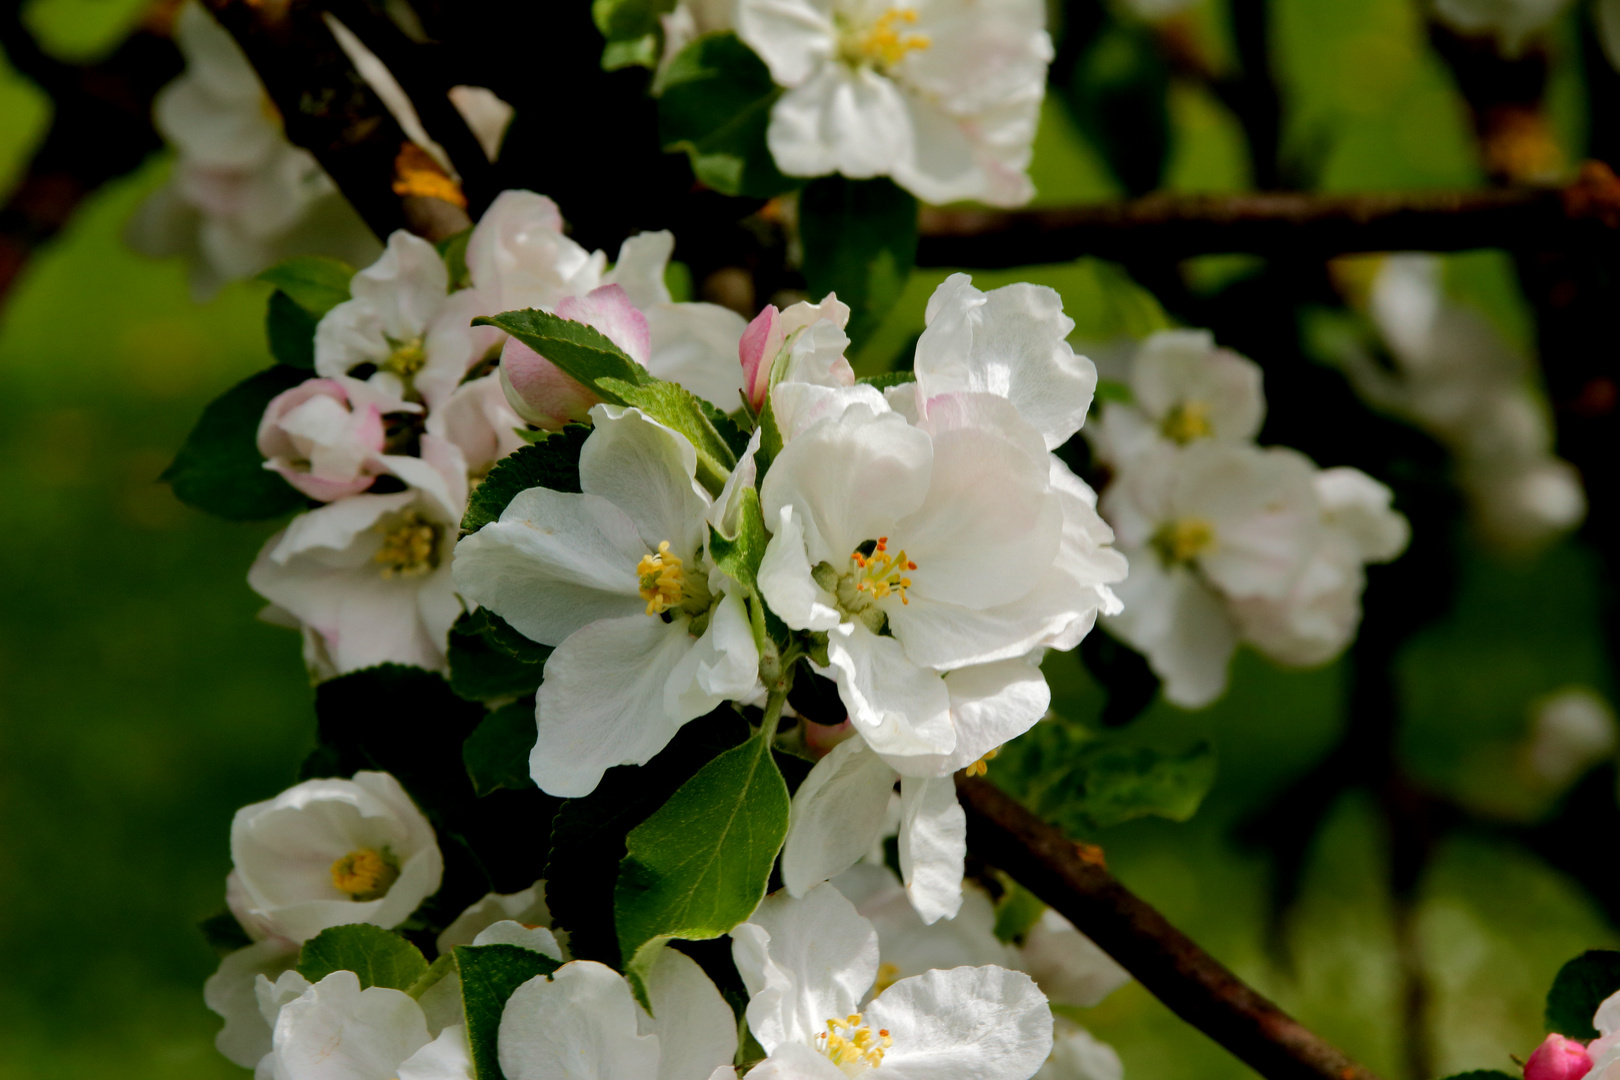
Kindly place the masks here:
[(1356, 251), (1547, 249), (1614, 243), (1620, 180), (1588, 162), (1567, 188), (1322, 196), (1149, 196), (1043, 210), (922, 214), (919, 266), (1014, 267), (1097, 256), (1121, 262), (1200, 254), (1328, 257)]

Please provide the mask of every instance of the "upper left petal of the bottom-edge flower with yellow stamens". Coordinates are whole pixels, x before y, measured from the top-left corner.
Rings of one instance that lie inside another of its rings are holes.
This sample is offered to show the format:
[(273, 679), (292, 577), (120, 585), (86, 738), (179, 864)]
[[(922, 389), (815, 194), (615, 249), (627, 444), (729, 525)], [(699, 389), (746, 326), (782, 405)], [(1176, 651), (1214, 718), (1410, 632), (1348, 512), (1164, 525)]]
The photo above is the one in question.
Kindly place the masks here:
[(859, 1009), (878, 978), (878, 934), (833, 886), (802, 900), (773, 892), (732, 931), (732, 959), (748, 988), (748, 1030), (774, 1054)]

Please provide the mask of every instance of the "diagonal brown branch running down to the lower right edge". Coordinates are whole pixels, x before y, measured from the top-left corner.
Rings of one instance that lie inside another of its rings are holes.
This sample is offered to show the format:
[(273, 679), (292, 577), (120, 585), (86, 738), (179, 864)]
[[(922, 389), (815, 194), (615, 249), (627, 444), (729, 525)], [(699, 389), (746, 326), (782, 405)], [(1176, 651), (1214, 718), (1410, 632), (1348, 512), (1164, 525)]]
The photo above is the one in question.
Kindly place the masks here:
[(957, 779), (967, 848), (1074, 923), (1171, 1012), (1268, 1080), (1375, 1080), (1228, 972), (1098, 858), (998, 787)]

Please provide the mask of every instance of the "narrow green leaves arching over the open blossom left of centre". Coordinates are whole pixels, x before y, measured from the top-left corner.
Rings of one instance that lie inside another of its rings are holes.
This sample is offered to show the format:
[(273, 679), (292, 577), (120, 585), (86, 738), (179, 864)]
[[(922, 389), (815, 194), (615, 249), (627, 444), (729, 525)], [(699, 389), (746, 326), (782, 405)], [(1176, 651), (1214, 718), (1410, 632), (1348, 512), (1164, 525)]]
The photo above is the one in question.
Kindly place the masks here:
[[(650, 376), (642, 364), (635, 363), (596, 327), (535, 309), (507, 311), (488, 319), (476, 319), (475, 324), (505, 330), (609, 405), (633, 405), (658, 423), (680, 432), (697, 450), (698, 483), (711, 494), (719, 494), (719, 489), (724, 487), (726, 478), (737, 465), (735, 440), (740, 432), (735, 431), (735, 426), (685, 387)], [(577, 460), (575, 457), (575, 470)], [(486, 479), (480, 489), (488, 483)], [(470, 510), (462, 526), (470, 528), (468, 521), (471, 520)]]

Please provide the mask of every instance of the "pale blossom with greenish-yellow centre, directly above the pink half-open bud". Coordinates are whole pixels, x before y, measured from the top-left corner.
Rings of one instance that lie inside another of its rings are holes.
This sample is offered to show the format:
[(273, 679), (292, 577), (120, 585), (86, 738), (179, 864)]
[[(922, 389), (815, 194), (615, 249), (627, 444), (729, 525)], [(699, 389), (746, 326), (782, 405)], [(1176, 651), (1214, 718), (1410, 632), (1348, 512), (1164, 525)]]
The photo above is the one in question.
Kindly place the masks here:
[(399, 398), (437, 408), (481, 355), (471, 329), (473, 293), (450, 293), (437, 248), (405, 230), (389, 236), (382, 257), (350, 282), (353, 300), (332, 308), (314, 330), (314, 369), (347, 376), (361, 364), (369, 381)]

